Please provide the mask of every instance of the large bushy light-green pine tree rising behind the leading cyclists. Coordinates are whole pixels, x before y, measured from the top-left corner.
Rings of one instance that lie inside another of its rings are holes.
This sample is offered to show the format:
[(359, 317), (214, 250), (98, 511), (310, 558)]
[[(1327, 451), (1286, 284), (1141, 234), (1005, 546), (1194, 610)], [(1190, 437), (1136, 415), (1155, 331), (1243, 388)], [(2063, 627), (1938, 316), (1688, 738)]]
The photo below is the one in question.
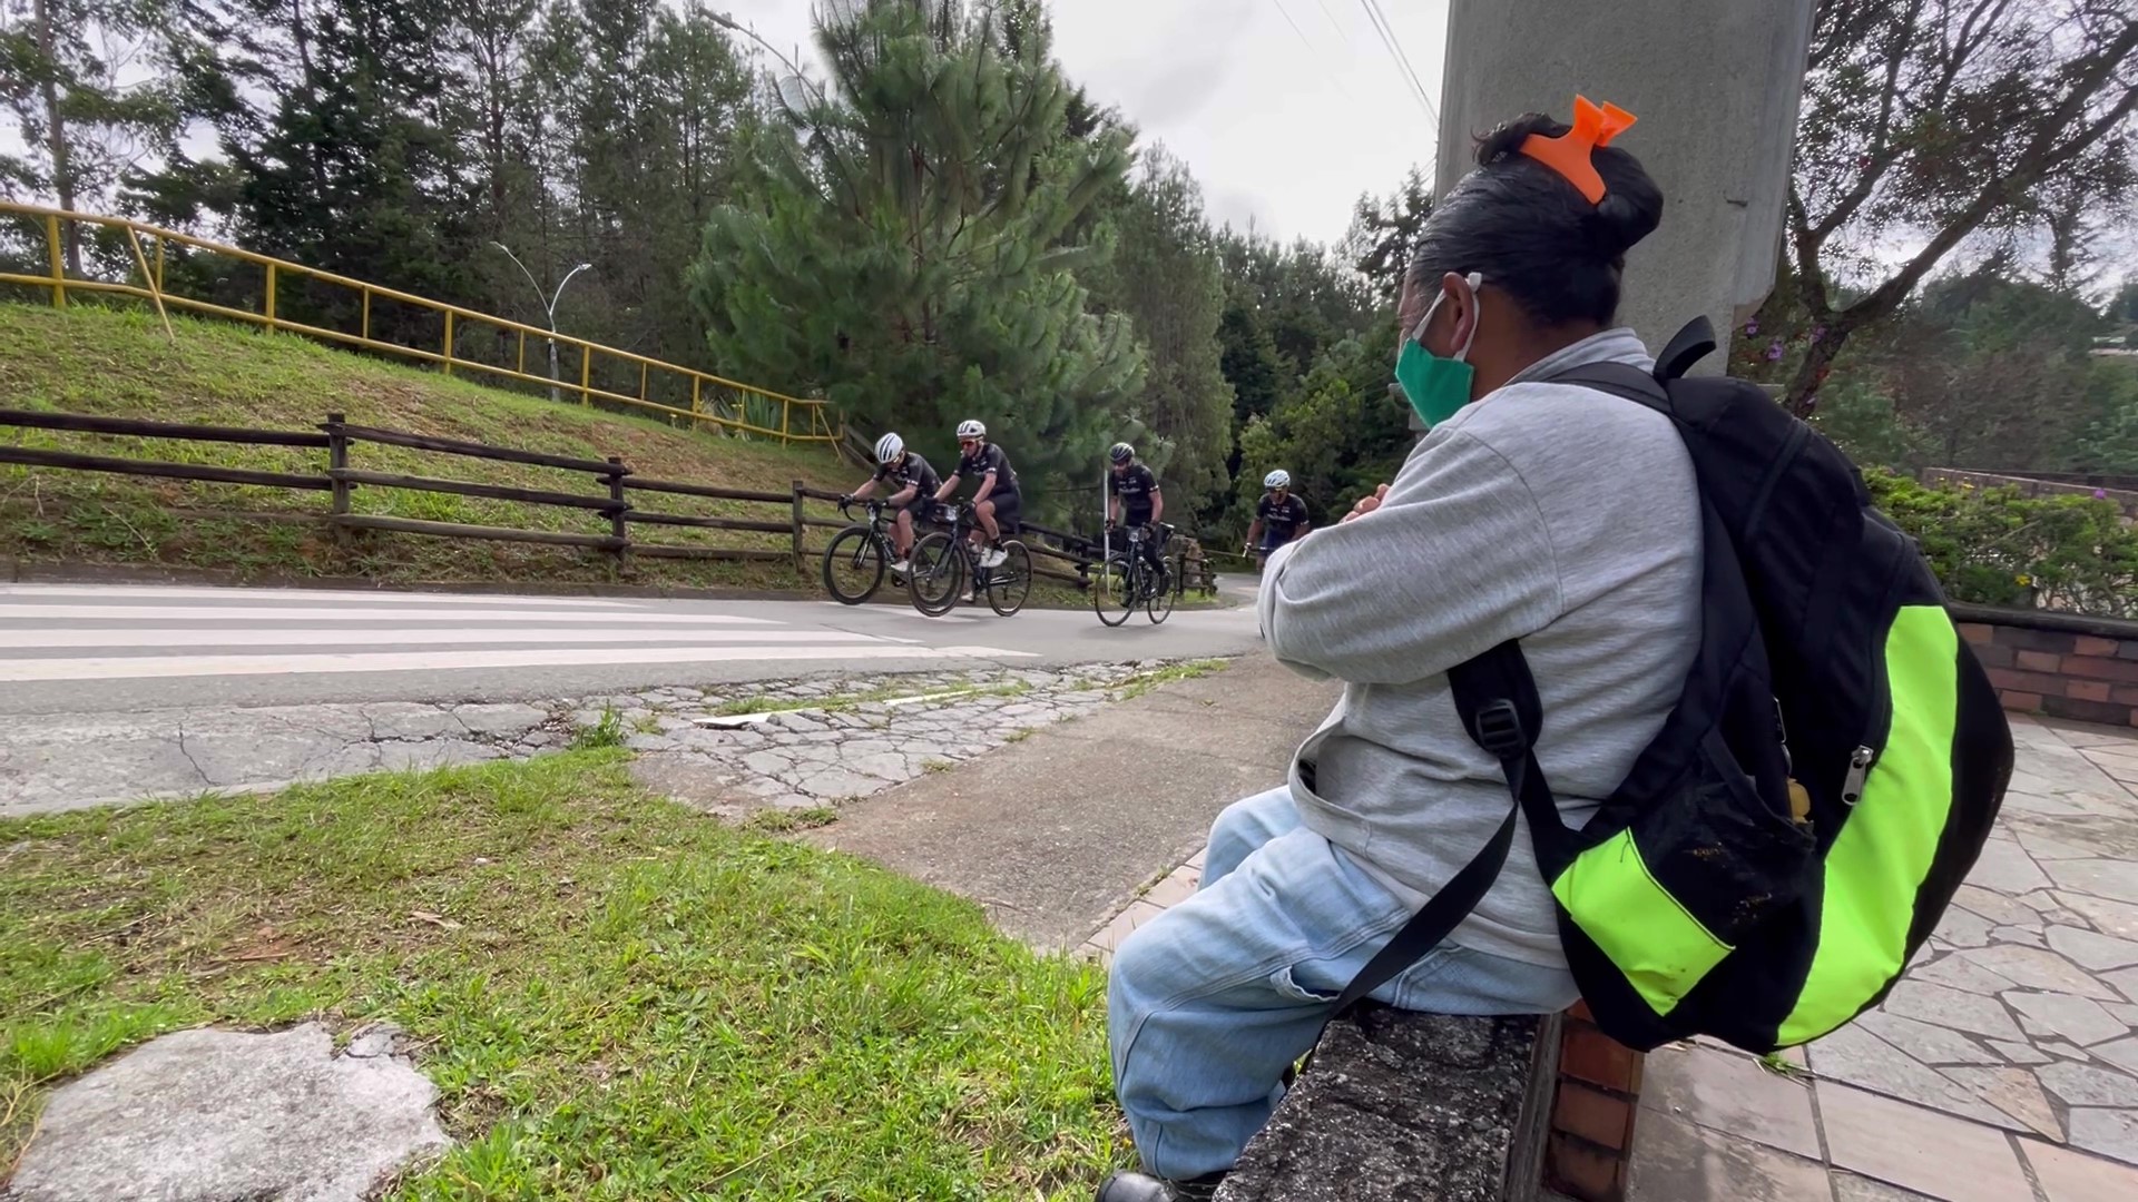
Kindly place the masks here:
[(1075, 218), (1127, 139), (1073, 139), (1043, 26), (853, 0), (817, 17), (830, 86), (774, 81), (750, 197), (714, 212), (695, 297), (731, 374), (823, 389), (859, 430), (947, 456), (988, 423), (1035, 500), (1093, 473), (1142, 385), (1120, 314), (1086, 312)]

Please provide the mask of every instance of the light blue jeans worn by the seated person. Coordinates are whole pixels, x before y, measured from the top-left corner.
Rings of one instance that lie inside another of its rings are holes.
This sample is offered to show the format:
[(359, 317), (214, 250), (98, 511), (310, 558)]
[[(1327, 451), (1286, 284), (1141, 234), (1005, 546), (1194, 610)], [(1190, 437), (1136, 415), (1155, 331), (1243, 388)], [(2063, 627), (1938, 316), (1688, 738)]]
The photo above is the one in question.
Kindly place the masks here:
[[(1202, 888), (1114, 952), (1114, 1091), (1144, 1168), (1184, 1181), (1231, 1168), (1283, 1097), (1330, 1001), (1411, 909), (1300, 826), (1289, 789), (1234, 802), (1210, 828)], [(1437, 1014), (1550, 1014), (1574, 977), (1441, 943), (1375, 1001)]]

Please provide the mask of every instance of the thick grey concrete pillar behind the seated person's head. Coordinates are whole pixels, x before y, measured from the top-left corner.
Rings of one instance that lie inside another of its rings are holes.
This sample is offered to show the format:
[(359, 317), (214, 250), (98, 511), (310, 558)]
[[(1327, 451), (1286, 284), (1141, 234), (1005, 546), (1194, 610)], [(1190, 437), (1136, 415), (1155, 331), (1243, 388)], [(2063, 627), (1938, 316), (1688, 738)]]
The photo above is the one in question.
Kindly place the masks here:
[(1621, 317), (1651, 351), (1702, 312), (1728, 338), (1775, 287), (1811, 15), (1813, 0), (1450, 0), (1437, 190), (1507, 118), (1571, 120), (1576, 92), (1631, 111), (1616, 145), (1668, 207), (1627, 257)]

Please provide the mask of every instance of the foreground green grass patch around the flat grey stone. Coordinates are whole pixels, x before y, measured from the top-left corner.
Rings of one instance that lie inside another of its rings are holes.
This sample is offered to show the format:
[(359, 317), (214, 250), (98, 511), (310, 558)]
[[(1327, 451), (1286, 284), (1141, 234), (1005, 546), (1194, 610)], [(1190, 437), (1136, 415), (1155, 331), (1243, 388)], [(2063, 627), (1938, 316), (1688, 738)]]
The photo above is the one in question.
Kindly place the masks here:
[(1095, 967), (624, 761), (0, 823), (0, 1164), (111, 1052), (306, 1018), (421, 1048), (462, 1142), (393, 1198), (1082, 1200), (1127, 1161)]

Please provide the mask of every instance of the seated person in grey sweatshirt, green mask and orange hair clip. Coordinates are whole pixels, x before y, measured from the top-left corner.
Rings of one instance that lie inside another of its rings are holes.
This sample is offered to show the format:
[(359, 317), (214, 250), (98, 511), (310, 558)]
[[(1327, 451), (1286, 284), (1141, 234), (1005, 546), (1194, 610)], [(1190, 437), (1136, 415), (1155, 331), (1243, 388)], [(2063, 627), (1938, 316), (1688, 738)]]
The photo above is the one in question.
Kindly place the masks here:
[[(1663, 197), (1625, 150), (1544, 158), (1524, 115), (1432, 210), (1403, 278), (1400, 394), (1430, 426), (1351, 513), (1279, 548), (1259, 618), (1279, 661), (1345, 684), (1285, 787), (1210, 828), (1202, 888), (1118, 947), (1114, 1084), (1146, 1172), (1101, 1202), (1210, 1198), (1283, 1097), (1332, 1001), (1507, 817), (1501, 766), (1462, 729), (1447, 669), (1520, 639), (1537, 759), (1569, 826), (1625, 779), (1700, 642), (1700, 496), (1661, 413), (1552, 383), (1653, 370), (1614, 327), (1625, 252)], [(1601, 190), (1601, 201), (1591, 201)], [(1454, 935), (1373, 999), (1439, 1014), (1576, 1001), (1527, 828)]]

